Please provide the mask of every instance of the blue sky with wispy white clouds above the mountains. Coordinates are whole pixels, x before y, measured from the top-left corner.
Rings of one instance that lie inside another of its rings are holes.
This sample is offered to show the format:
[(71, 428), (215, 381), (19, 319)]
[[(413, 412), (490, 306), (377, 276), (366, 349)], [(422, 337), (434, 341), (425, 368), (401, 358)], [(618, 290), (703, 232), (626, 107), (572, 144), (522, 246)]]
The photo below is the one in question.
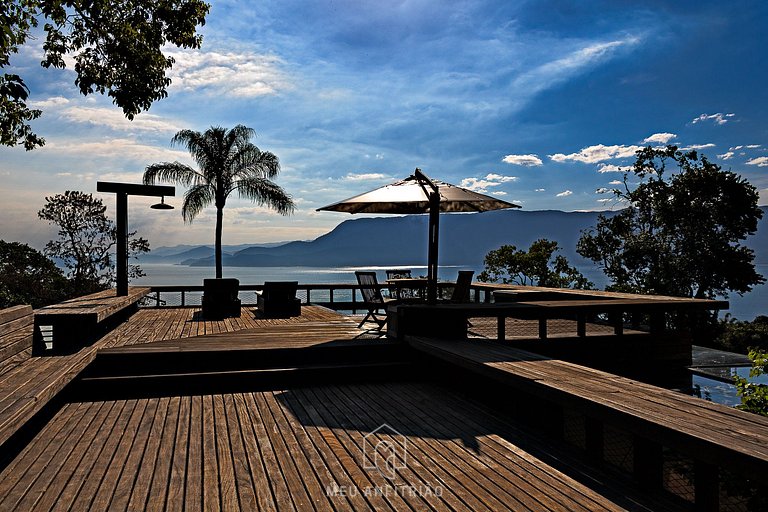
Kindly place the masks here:
[[(194, 165), (181, 129), (253, 128), (275, 153), (289, 217), (230, 197), (224, 243), (308, 240), (348, 214), (316, 208), (414, 168), (524, 210), (620, 208), (610, 194), (637, 149), (696, 149), (749, 180), (768, 204), (768, 2), (212, 0), (203, 46), (167, 48), (168, 97), (133, 121), (83, 97), (73, 66), (20, 74), (41, 149), (0, 148), (0, 238), (42, 248), (45, 197), (140, 183), (150, 164)], [(71, 61), (70, 61), (71, 64)], [(129, 198), (152, 247), (212, 244), (215, 209), (191, 224), (156, 198)]]

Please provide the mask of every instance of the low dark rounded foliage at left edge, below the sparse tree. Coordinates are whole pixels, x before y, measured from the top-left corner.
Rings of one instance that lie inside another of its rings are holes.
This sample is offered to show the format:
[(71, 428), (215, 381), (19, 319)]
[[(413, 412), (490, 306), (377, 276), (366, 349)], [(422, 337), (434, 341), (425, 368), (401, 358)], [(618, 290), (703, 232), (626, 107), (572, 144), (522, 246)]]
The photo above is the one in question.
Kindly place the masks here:
[(19, 242), (0, 240), (0, 308), (39, 308), (67, 297), (67, 279), (53, 261)]

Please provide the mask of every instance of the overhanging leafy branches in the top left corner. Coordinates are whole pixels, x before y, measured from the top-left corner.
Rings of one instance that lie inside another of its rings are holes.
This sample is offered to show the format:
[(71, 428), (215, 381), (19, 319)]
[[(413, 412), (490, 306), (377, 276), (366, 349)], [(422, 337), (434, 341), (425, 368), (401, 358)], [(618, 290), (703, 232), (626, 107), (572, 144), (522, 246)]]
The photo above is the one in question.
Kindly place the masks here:
[[(166, 44), (199, 48), (197, 27), (210, 6), (202, 0), (5, 0), (0, 2), (0, 69), (10, 66), (30, 34), (43, 23), (41, 64), (63, 68), (74, 55), (75, 85), (83, 95), (107, 94), (128, 119), (168, 95), (166, 71), (173, 58)], [(13, 73), (0, 75), (0, 144), (27, 150), (45, 141), (29, 122), (39, 110), (27, 106), (29, 89)]]

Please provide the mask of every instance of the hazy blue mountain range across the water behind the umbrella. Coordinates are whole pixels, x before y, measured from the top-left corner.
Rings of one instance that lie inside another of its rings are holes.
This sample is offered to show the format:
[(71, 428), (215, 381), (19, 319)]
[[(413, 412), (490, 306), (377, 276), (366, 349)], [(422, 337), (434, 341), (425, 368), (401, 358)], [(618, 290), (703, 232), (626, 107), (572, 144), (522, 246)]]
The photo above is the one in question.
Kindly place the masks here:
[[(768, 207), (763, 207), (768, 213)], [(501, 210), (440, 217), (440, 263), (482, 267), (483, 257), (504, 244), (527, 249), (539, 238), (555, 240), (576, 266), (589, 264), (576, 254), (581, 232), (595, 226), (600, 212)], [(226, 236), (226, 233), (225, 233)], [(747, 245), (757, 263), (768, 263), (768, 215)], [(232, 267), (336, 267), (422, 265), (427, 254), (427, 216), (353, 218), (311, 241), (224, 246), (223, 262)], [(160, 247), (144, 263), (212, 266), (211, 246)]]

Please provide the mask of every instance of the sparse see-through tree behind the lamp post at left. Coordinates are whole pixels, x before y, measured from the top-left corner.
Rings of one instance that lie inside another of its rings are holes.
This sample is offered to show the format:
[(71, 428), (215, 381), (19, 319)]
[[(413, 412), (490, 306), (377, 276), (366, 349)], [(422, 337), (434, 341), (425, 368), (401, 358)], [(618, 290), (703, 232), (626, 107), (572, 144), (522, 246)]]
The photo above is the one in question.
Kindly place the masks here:
[[(115, 265), (112, 257), (117, 243), (115, 224), (107, 218), (101, 199), (78, 191), (66, 191), (45, 198), (37, 215), (59, 227), (58, 240), (45, 246), (48, 256), (59, 258), (67, 269), (73, 295), (87, 295), (112, 286)], [(130, 257), (149, 252), (149, 242), (128, 234)], [(143, 276), (138, 265), (128, 266), (128, 277)]]

